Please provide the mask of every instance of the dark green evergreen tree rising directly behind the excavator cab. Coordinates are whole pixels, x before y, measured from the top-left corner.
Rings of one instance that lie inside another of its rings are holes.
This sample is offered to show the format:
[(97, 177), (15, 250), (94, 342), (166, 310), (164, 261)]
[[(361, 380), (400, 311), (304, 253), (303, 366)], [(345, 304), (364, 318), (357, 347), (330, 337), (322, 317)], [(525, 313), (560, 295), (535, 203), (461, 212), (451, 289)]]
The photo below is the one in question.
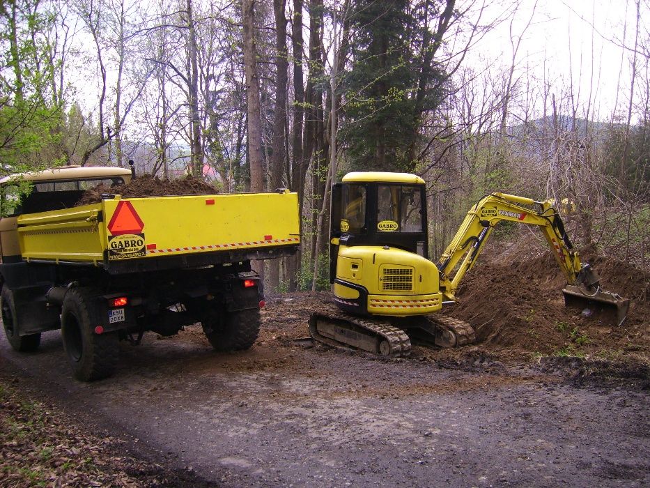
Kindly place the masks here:
[(353, 65), (342, 81), (346, 120), (341, 133), (351, 169), (415, 168), (412, 149), (421, 114), (440, 101), (440, 89), (433, 89), (440, 73), (428, 66), (422, 49), (431, 32), (426, 22), (418, 22), (421, 8), (428, 6), (411, 8), (405, 0), (355, 2), (350, 21), (355, 31), (350, 42)]

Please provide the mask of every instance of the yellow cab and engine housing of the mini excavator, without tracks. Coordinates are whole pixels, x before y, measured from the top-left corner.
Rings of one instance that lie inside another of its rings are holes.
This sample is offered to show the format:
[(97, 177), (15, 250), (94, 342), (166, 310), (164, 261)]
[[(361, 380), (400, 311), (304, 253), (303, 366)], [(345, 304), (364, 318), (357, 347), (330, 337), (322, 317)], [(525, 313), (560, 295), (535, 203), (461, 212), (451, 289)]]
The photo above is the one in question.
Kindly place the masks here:
[(440, 310), (425, 190), (419, 176), (380, 171), (349, 173), (334, 185), (330, 282), (339, 308), (394, 317)]

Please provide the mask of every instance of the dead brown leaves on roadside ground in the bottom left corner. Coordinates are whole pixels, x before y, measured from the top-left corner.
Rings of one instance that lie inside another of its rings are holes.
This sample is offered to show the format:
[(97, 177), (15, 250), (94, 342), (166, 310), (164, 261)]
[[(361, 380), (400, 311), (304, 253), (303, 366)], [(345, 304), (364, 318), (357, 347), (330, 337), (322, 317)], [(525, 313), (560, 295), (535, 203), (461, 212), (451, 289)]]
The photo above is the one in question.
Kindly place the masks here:
[(82, 431), (6, 380), (0, 377), (0, 487), (169, 486), (162, 466), (122, 455), (123, 442)]

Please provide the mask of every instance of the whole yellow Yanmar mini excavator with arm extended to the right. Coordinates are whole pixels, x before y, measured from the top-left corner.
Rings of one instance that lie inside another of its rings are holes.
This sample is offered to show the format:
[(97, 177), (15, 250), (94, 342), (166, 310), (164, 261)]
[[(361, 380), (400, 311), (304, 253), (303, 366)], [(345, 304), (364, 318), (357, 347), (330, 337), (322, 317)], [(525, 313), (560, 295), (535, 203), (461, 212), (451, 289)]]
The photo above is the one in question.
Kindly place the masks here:
[(603, 291), (582, 263), (551, 201), (493, 193), (467, 212), (438, 264), (428, 259), (425, 183), (414, 174), (355, 172), (332, 187), (330, 281), (336, 307), (311, 315), (314, 340), (384, 356), (408, 356), (411, 338), (441, 347), (475, 341), (470, 324), (440, 314), (495, 225), (503, 220), (538, 226), (575, 300), (626, 317), (629, 300)]

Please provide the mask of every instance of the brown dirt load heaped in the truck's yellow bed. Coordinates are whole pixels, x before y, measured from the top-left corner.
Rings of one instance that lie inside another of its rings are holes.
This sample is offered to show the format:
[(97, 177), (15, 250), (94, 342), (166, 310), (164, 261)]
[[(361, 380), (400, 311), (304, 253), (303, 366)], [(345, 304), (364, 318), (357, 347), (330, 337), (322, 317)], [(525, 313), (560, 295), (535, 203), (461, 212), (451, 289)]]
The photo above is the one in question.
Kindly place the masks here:
[(144, 174), (131, 183), (115, 186), (98, 185), (87, 190), (75, 206), (97, 204), (102, 201), (102, 194), (122, 195), (123, 197), (165, 197), (171, 195), (206, 195), (217, 190), (194, 176), (185, 176), (177, 180), (164, 180), (157, 176)]

